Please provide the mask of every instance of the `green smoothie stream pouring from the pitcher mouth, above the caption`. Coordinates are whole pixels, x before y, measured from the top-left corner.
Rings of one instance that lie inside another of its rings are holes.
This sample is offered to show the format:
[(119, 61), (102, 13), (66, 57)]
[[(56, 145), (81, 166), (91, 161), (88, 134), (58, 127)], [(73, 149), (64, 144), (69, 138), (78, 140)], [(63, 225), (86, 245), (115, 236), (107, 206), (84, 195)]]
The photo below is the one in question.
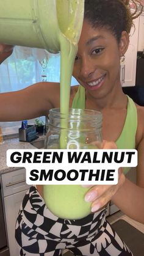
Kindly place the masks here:
[[(64, 8), (62, 8), (62, 5)], [(79, 11), (77, 12), (77, 10)], [(65, 16), (65, 13), (67, 13), (68, 16)], [(59, 34), (60, 113), (62, 114), (68, 114), (69, 112), (71, 75), (73, 73), (74, 59), (77, 53), (77, 43), (82, 27), (82, 24), (77, 23), (77, 18), (80, 18), (81, 20), (83, 15), (84, 1), (73, 0), (70, 2), (69, 0), (57, 0), (57, 19), (60, 31), (62, 32)], [(60, 134), (60, 148), (63, 149), (67, 148), (67, 126), (67, 121), (62, 119), (61, 127), (63, 127), (64, 130), (62, 130)]]

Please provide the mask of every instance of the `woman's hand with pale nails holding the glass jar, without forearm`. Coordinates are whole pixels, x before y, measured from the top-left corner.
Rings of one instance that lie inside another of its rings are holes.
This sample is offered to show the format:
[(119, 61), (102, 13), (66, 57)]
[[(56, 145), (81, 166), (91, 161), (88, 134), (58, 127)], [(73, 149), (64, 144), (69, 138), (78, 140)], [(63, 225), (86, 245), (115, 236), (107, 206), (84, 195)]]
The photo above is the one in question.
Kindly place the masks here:
[[(103, 149), (116, 149), (117, 146), (114, 142), (103, 141)], [(117, 185), (90, 185), (87, 186), (92, 188), (88, 190), (85, 195), (86, 202), (92, 202), (92, 212), (98, 211), (103, 208), (112, 199), (119, 188), (123, 185), (125, 177), (123, 170), (118, 169), (118, 184)]]

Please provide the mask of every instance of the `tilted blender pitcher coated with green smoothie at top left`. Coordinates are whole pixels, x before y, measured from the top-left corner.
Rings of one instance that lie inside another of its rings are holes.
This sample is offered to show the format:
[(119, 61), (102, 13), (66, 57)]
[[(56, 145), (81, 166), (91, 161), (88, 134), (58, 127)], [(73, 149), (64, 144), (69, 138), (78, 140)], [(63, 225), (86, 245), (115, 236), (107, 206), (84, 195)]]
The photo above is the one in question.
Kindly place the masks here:
[(60, 51), (60, 36), (77, 43), (84, 0), (0, 0), (0, 41)]

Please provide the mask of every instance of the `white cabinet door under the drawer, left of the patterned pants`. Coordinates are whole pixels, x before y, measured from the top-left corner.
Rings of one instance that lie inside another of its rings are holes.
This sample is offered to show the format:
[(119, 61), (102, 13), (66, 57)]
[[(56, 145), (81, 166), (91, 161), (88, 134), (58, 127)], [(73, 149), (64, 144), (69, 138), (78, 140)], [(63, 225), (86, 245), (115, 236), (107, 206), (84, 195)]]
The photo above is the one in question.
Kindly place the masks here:
[[(27, 191), (27, 190), (26, 190)], [(20, 205), (26, 191), (18, 192), (4, 198), (5, 219), (7, 225), (7, 236), (9, 242), (10, 256), (20, 255), (18, 245), (15, 241), (15, 222), (20, 210)]]

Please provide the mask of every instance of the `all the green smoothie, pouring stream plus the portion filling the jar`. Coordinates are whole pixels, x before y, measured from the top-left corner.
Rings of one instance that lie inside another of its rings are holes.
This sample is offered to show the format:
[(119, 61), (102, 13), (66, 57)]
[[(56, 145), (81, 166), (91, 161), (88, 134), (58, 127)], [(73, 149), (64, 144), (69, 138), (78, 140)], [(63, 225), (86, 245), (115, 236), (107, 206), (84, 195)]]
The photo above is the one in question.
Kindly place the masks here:
[[(62, 9), (62, 1), (67, 8)], [(81, 34), (81, 26), (76, 24), (75, 12), (77, 5), (81, 2), (79, 18), (84, 15), (84, 1), (70, 2), (66, 0), (57, 0), (57, 17), (59, 27), (62, 33), (59, 34), (60, 41), (60, 113), (68, 114), (70, 101), (70, 83), (73, 73), (74, 59), (77, 53), (77, 43)], [(62, 19), (70, 8), (71, 14)], [(61, 120), (60, 125), (64, 128), (60, 133), (59, 148), (67, 148), (67, 126), (66, 120)], [(64, 219), (80, 219), (90, 213), (90, 203), (84, 200), (87, 188), (81, 185), (45, 185), (43, 186), (43, 195), (49, 210), (56, 216)]]

